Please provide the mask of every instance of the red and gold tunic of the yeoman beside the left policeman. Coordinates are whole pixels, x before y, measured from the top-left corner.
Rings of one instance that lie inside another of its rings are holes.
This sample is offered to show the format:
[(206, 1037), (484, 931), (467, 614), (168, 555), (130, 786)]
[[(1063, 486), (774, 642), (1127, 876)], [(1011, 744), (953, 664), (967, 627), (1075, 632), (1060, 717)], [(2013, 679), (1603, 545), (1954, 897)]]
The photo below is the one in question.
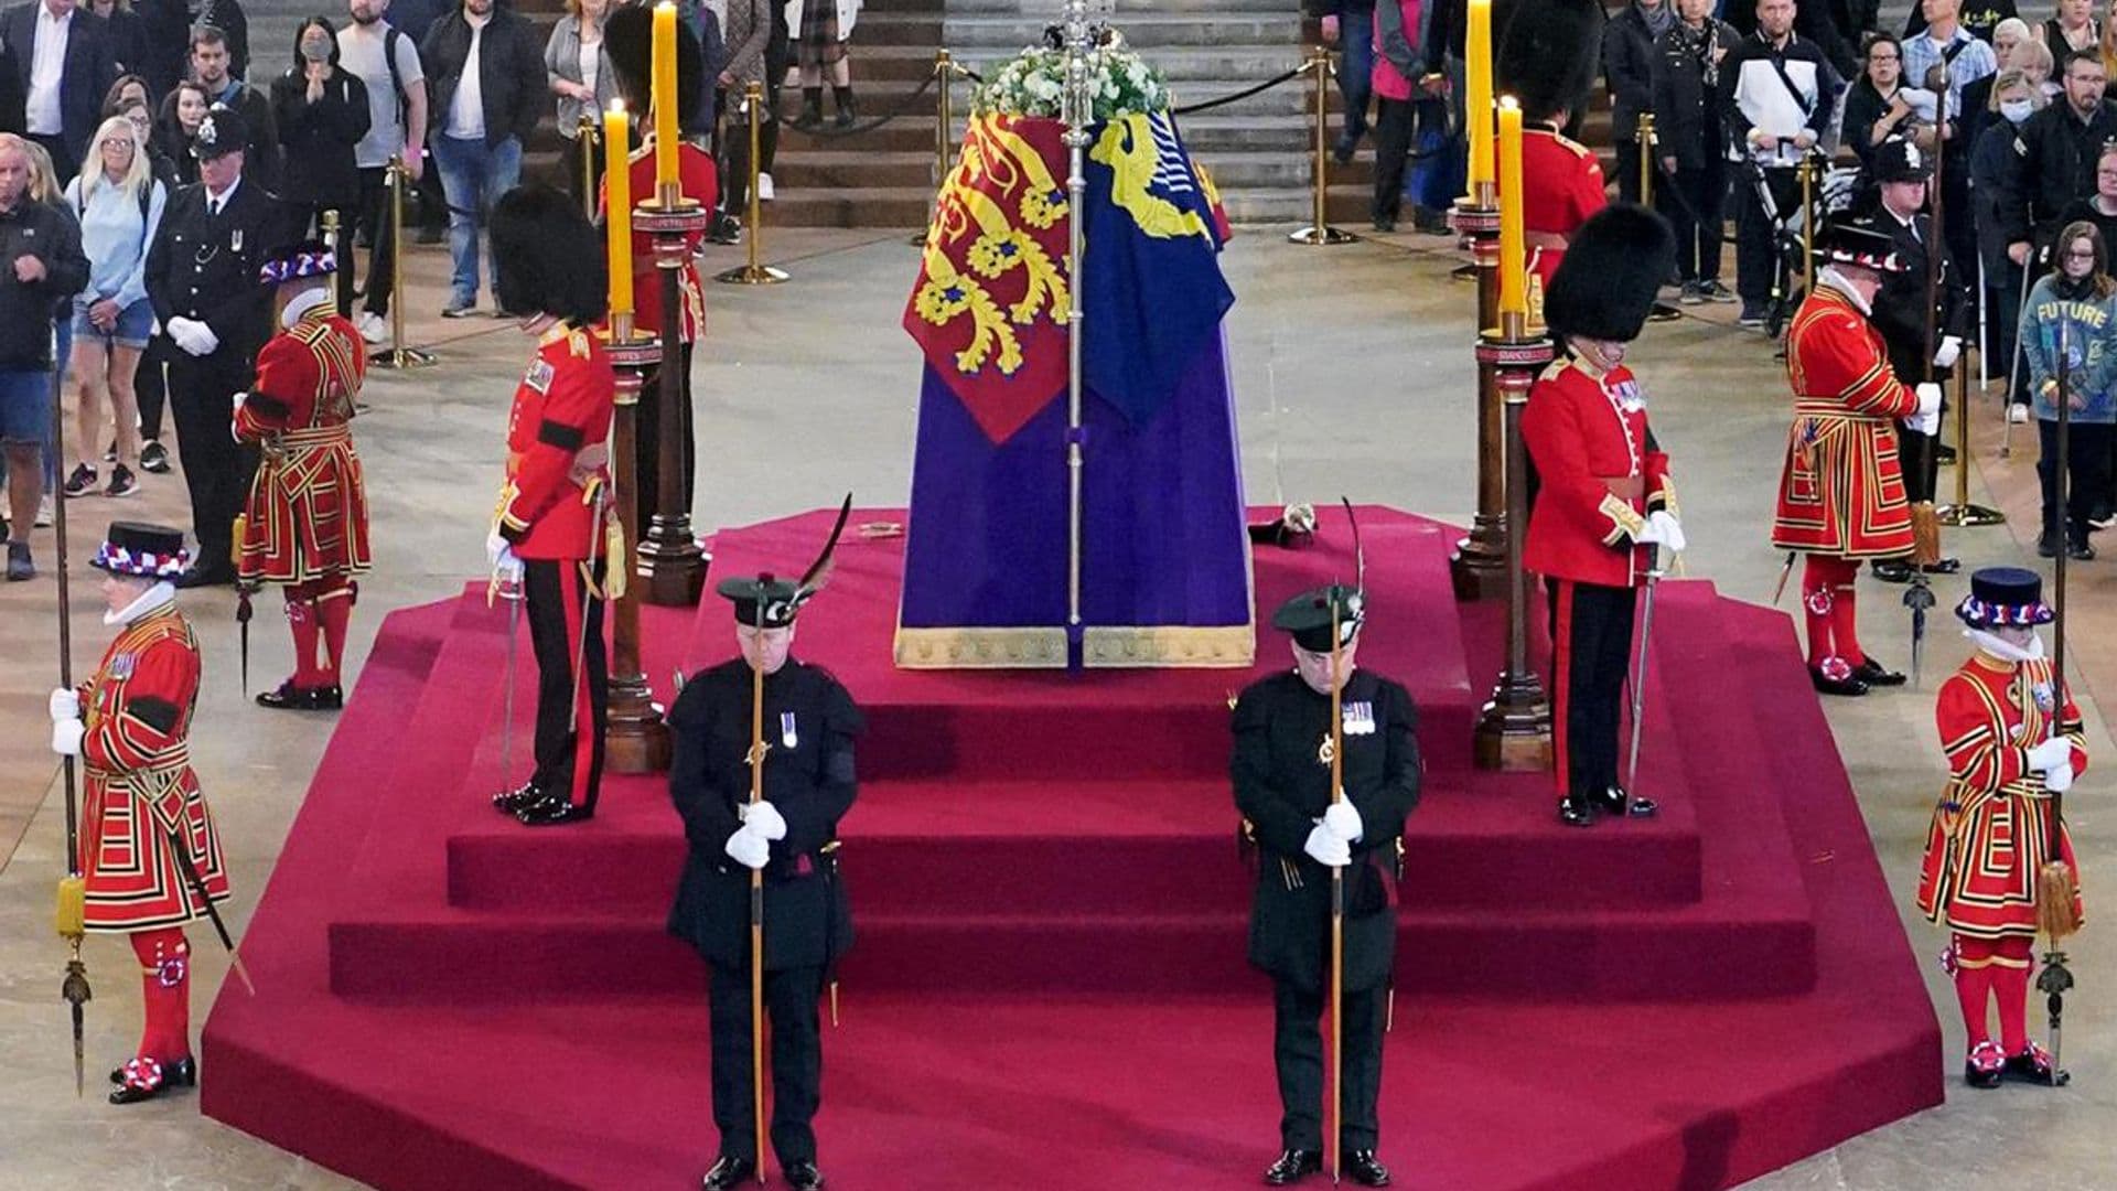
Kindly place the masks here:
[(364, 377), (360, 333), (328, 303), (258, 352), (256, 381), (235, 409), (235, 437), (263, 447), (239, 543), (246, 581), (368, 570), (368, 496), (349, 428)]

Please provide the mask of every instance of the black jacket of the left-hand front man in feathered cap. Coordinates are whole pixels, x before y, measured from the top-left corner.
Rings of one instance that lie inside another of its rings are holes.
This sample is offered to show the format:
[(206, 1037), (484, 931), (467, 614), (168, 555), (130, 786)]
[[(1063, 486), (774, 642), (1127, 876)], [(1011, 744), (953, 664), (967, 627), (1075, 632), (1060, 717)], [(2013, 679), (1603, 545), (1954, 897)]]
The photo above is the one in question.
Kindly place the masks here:
[[(749, 663), (699, 672), (669, 708), (669, 799), (690, 856), (669, 907), (669, 932), (724, 971), (749, 968), (749, 869), (726, 852), (749, 801)], [(764, 799), (788, 820), (764, 865), (764, 968), (834, 962), (853, 943), (836, 869), (838, 820), (853, 807), (853, 695), (819, 665), (788, 661), (764, 680)]]

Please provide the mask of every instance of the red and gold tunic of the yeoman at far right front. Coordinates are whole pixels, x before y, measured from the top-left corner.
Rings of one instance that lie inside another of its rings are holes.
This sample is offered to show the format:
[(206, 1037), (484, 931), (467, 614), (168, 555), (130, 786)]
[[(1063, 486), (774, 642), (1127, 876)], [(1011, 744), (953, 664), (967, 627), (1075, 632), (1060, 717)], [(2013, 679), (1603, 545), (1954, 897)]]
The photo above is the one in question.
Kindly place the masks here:
[[(2049, 659), (2015, 663), (1979, 651), (1941, 685), (1933, 718), (1948, 752), (1948, 786), (1918, 867), (1918, 909), (1933, 922), (1971, 939), (2037, 935), (2037, 871), (2049, 860), (2051, 795), (2028, 767), (2028, 750), (2049, 740), (2056, 708)], [(2087, 769), (2087, 746), (2070, 693), (2058, 723), (2073, 742), (2079, 776)], [(2058, 852), (2077, 882), (2062, 822)]]

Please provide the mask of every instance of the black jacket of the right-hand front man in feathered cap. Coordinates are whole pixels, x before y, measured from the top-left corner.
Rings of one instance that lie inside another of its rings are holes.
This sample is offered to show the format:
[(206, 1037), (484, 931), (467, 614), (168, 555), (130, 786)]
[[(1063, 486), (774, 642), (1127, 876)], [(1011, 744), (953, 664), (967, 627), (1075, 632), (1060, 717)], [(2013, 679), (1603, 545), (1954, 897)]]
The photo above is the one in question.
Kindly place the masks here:
[[(1344, 871), (1344, 985), (1376, 988), (1397, 952), (1395, 856), (1404, 816), (1418, 803), (1412, 695), (1355, 670), (1344, 685), (1344, 797), (1363, 835)], [(1363, 729), (1363, 731), (1361, 731)], [(1260, 678), (1234, 704), (1234, 805), (1257, 843), (1249, 962), (1317, 990), (1329, 966), (1329, 869), (1304, 843), (1329, 805), (1329, 695), (1300, 674)]]

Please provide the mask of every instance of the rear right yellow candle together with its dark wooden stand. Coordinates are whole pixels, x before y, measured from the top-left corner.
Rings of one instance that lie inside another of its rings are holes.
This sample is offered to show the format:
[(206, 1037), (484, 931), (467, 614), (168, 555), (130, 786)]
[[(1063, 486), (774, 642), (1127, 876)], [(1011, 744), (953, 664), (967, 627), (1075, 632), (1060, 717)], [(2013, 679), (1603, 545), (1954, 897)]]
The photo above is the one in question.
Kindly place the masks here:
[(1478, 273), (1478, 513), (1469, 536), (1456, 543), (1448, 576), (1456, 600), (1486, 600), (1507, 589), (1507, 430), (1499, 371), (1482, 341), (1499, 326), (1499, 182), (1492, 157), (1492, 0), (1469, 0), (1465, 34), (1469, 125), (1469, 193), (1456, 199), (1450, 223)]

